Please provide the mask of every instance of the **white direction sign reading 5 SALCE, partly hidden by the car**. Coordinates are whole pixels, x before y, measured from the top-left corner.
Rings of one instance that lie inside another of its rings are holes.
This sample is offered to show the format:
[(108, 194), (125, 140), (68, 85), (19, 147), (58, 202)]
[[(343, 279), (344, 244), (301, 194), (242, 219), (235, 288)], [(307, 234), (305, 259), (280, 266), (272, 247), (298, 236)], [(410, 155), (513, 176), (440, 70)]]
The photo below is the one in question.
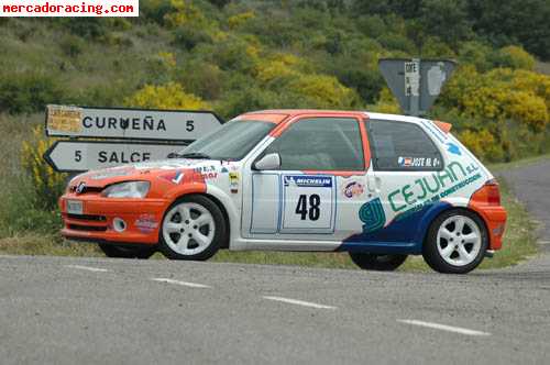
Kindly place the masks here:
[(165, 159), (185, 145), (139, 142), (57, 141), (44, 159), (59, 173), (87, 172), (123, 164)]

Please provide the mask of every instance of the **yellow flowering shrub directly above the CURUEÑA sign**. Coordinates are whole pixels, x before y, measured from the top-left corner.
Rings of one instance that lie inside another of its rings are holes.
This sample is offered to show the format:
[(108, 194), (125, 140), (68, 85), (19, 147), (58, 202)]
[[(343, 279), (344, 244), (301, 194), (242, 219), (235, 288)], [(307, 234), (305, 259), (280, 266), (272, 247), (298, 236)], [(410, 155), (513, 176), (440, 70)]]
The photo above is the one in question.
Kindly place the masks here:
[(153, 109), (210, 109), (210, 106), (199, 97), (188, 93), (177, 82), (161, 86), (146, 85), (133, 96), (125, 99), (125, 104), (132, 108)]

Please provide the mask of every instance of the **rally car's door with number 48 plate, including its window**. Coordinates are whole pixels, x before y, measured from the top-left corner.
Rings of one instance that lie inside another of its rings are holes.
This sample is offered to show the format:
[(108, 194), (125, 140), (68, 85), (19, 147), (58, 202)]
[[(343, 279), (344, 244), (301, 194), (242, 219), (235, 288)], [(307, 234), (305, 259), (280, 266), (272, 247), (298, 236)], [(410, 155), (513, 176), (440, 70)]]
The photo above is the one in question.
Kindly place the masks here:
[(355, 118), (292, 123), (256, 158), (276, 153), (280, 167), (251, 172), (243, 191), (243, 235), (334, 241), (356, 231), (366, 195), (364, 140)]

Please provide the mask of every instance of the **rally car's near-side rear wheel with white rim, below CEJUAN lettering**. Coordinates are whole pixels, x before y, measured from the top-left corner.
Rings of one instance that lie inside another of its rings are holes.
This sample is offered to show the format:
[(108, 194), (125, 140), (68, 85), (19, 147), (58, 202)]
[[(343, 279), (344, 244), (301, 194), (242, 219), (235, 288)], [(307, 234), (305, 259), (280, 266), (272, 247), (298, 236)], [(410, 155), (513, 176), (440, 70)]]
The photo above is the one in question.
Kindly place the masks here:
[(472, 211), (453, 209), (438, 215), (428, 230), (422, 256), (436, 272), (468, 274), (483, 261), (488, 246), (487, 229)]

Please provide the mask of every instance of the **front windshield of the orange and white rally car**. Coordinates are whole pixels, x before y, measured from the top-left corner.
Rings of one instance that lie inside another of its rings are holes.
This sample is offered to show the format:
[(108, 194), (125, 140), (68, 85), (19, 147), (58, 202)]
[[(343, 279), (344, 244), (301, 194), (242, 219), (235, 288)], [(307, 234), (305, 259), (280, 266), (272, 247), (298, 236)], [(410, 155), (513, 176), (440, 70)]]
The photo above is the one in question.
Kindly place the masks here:
[(176, 157), (239, 161), (243, 158), (275, 123), (233, 120), (219, 130), (195, 141)]

